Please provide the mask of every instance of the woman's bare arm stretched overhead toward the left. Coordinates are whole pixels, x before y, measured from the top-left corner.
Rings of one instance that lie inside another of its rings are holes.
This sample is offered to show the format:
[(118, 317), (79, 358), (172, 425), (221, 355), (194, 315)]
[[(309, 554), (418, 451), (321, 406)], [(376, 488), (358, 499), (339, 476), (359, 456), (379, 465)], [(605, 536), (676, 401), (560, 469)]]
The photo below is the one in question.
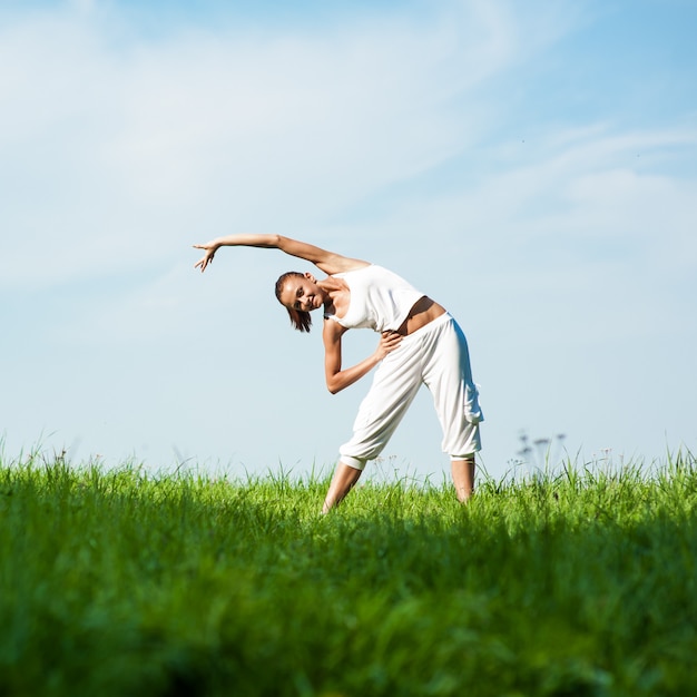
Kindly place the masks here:
[(269, 249), (281, 249), (291, 256), (296, 256), (314, 264), (325, 274), (338, 274), (354, 268), (367, 266), (367, 262), (352, 259), (334, 252), (327, 252), (306, 242), (284, 237), (283, 235), (256, 235), (242, 234), (228, 235), (212, 239), (203, 245), (194, 245), (196, 249), (205, 249), (206, 254), (194, 265), (194, 268), (206, 271), (206, 266), (213, 262), (215, 253), (220, 247), (266, 247)]

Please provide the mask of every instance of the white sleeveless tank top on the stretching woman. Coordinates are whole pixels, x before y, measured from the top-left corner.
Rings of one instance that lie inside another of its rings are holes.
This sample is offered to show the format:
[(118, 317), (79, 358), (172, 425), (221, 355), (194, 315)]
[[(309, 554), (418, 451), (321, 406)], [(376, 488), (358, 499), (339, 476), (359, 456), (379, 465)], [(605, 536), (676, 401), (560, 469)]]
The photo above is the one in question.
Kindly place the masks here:
[(346, 282), (351, 291), (351, 303), (343, 317), (328, 314), (324, 316), (347, 330), (399, 330), (409, 311), (424, 295), (401, 276), (375, 264), (333, 274), (332, 277)]

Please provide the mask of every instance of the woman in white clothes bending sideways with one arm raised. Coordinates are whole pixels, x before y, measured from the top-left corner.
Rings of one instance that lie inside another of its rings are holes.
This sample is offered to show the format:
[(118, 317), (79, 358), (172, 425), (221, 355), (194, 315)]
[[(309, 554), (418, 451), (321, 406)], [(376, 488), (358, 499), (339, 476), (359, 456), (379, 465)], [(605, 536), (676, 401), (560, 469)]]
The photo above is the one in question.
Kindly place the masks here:
[[(380, 364), (359, 409), (353, 436), (340, 449), (322, 512), (336, 505), (359, 481), (365, 463), (382, 452), (421, 384), (433, 395), (458, 499), (470, 498), (483, 418), (464, 334), (444, 307), (381, 266), (282, 235), (230, 235), (194, 246), (205, 251), (195, 264), (202, 272), (220, 247), (245, 246), (281, 249), (327, 274), (320, 281), (310, 273), (284, 274), (276, 282), (276, 297), (301, 332), (310, 331), (311, 313), (322, 308), (324, 370), (332, 394)], [(343, 369), (341, 342), (351, 328), (372, 328), (381, 338), (375, 353)]]

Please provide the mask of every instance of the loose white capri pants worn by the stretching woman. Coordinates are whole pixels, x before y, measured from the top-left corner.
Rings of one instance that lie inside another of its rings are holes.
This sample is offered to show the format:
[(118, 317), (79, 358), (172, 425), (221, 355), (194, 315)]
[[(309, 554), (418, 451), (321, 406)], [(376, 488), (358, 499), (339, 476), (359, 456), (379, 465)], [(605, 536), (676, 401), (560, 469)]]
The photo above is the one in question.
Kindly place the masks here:
[(341, 462), (365, 468), (387, 444), (425, 384), (443, 429), (443, 452), (461, 460), (481, 450), (479, 392), (472, 382), (467, 340), (445, 313), (405, 336), (377, 366), (353, 424), (353, 438), (338, 450)]

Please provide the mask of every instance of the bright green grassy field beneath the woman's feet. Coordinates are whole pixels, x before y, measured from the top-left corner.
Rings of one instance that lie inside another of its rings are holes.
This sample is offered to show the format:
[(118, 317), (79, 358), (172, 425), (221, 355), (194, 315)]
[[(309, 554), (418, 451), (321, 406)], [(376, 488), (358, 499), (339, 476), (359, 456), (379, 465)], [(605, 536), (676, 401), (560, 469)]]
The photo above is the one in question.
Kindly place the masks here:
[(697, 467), (451, 489), (0, 463), (0, 694), (697, 695)]

